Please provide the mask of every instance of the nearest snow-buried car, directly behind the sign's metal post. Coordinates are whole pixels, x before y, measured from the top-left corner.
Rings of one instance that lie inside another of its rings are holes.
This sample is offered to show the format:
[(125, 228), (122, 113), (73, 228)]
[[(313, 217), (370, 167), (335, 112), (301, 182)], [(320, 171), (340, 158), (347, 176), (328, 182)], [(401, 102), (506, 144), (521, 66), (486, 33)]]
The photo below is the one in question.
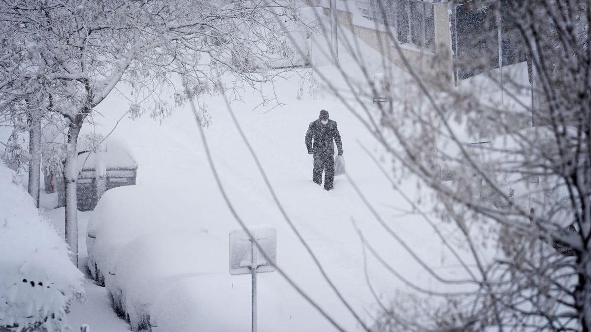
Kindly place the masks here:
[[(282, 290), (265, 280), (257, 285), (257, 331), (296, 331), (302, 326), (291, 315)], [(231, 303), (232, 305), (228, 305)], [(294, 309), (293, 303), (291, 308)], [(293, 317), (293, 319), (292, 319)], [(193, 276), (165, 289), (151, 308), (152, 332), (246, 331), (251, 325), (251, 278), (249, 275)], [(310, 331), (310, 330), (300, 330)]]

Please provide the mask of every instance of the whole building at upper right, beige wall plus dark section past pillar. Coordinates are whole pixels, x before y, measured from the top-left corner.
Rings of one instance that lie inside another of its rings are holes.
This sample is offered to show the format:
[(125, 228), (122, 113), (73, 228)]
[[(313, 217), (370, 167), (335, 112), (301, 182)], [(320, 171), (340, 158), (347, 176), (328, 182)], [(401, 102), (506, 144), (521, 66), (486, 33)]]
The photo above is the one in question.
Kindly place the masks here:
[[(307, 4), (330, 15), (330, 0), (307, 0)], [(498, 68), (499, 62), (508, 66), (526, 61), (519, 31), (502, 17), (499, 43), (496, 8), (490, 3), (336, 0), (336, 7), (339, 24), (403, 70), (407, 66), (401, 53), (419, 73), (450, 82)]]

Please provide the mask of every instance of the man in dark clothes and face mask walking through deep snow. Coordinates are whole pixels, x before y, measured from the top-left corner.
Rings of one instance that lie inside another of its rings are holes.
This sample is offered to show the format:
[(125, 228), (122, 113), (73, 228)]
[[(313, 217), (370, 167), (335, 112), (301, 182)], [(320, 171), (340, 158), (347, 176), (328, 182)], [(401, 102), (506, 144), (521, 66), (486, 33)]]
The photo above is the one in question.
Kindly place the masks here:
[(320, 185), (322, 172), (324, 171), (324, 189), (333, 188), (335, 179), (335, 144), (339, 155), (343, 155), (343, 143), (340, 141), (339, 129), (336, 122), (329, 120), (329, 112), (326, 109), (320, 111), (320, 118), (310, 123), (306, 133), (306, 148), (308, 154), (314, 157), (314, 170), (312, 181)]

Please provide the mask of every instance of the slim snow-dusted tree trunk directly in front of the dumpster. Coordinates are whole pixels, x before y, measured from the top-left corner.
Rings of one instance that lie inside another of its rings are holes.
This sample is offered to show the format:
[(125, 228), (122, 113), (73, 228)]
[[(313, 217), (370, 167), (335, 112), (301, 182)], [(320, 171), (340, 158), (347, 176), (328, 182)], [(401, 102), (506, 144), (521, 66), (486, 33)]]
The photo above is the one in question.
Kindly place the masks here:
[(70, 123), (68, 141), (66, 145), (66, 161), (64, 163), (64, 193), (66, 203), (66, 243), (72, 250), (72, 262), (78, 266), (78, 203), (76, 200), (76, 180), (78, 167), (76, 165), (76, 145), (82, 123)]

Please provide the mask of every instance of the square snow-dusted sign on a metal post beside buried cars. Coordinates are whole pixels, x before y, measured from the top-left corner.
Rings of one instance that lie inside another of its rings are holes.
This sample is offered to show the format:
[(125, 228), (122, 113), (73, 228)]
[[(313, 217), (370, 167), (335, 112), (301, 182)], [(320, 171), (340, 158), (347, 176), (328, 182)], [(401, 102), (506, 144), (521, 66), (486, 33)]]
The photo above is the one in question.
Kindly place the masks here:
[[(253, 238), (243, 229), (230, 232), (230, 274), (250, 274), (252, 278), (252, 332), (256, 332), (256, 274), (275, 271), (277, 261), (277, 231), (272, 227), (259, 226), (249, 229)], [(256, 243), (270, 261), (259, 253)]]

